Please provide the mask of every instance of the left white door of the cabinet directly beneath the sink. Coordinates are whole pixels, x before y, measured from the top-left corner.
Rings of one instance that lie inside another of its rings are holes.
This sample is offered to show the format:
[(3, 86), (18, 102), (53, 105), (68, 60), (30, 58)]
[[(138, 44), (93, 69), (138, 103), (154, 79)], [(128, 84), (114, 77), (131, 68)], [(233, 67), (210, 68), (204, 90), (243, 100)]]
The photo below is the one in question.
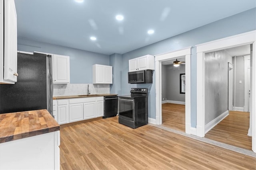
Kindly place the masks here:
[(69, 105), (69, 122), (83, 120), (83, 104), (70, 104)]

